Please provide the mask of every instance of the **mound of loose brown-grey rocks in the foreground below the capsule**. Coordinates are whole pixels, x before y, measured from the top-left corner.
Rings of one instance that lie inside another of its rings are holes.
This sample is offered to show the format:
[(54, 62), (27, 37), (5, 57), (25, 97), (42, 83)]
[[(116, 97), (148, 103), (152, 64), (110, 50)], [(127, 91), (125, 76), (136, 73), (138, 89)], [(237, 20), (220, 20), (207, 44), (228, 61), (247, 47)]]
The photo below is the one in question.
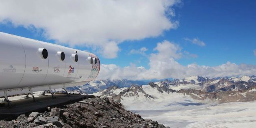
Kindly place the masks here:
[[(8, 121), (9, 120), (9, 121)], [(72, 104), (48, 107), (0, 121), (0, 128), (165, 128), (157, 121), (142, 119), (108, 98), (86, 98)]]

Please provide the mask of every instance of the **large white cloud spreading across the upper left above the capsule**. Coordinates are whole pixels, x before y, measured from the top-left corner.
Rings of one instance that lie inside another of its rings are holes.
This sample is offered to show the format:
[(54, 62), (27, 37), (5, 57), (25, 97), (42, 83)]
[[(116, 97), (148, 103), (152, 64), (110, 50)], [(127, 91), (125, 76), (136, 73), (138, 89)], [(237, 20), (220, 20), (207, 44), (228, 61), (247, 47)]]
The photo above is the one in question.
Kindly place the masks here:
[[(180, 0), (5, 0), (0, 23), (11, 22), (70, 46), (87, 46), (115, 58), (118, 43), (157, 37), (177, 28)], [(110, 45), (110, 46), (108, 46)], [(114, 48), (111, 48), (113, 46)]]

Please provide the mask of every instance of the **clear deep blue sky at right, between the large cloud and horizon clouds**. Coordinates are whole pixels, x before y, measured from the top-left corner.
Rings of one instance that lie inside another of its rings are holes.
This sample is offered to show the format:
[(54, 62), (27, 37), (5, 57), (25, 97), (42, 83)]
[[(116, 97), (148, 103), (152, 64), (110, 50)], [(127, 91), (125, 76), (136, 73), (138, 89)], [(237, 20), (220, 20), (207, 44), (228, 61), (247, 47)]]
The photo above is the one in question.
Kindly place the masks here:
[[(238, 1), (238, 0), (236, 0)], [(256, 1), (235, 2), (234, 0), (186, 0), (182, 7), (175, 7), (176, 17), (180, 24), (175, 30), (168, 30), (156, 38), (139, 41), (127, 41), (120, 45), (121, 52), (117, 59), (106, 59), (105, 63), (116, 61), (121, 66), (130, 63), (131, 58), (142, 59), (143, 56), (129, 55), (131, 49), (146, 47), (150, 54), (157, 42), (174, 41), (183, 50), (197, 54), (197, 58), (182, 58), (182, 65), (216, 66), (230, 61), (232, 63), (256, 64), (253, 50), (256, 49)], [(185, 41), (184, 38), (195, 38), (206, 43), (200, 47)], [(125, 56), (125, 57), (124, 57)], [(128, 59), (127, 59), (128, 58)], [(132, 61), (136, 63), (136, 60)], [(147, 63), (137, 65), (147, 66)]]

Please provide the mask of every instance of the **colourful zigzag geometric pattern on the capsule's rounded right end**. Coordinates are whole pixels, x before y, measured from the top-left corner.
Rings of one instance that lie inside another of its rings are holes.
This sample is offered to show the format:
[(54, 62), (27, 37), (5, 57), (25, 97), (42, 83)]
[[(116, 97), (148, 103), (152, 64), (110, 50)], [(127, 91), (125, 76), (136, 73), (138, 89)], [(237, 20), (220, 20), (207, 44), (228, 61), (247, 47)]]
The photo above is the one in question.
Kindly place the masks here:
[(98, 76), (98, 74), (100, 72), (100, 59), (98, 59), (98, 57), (95, 56), (95, 54), (89, 54), (89, 56), (95, 58), (97, 60), (97, 63), (96, 64), (93, 63), (91, 65), (91, 73), (90, 73), (90, 75), (88, 76), (88, 78), (85, 81), (92, 81), (92, 80), (94, 80)]

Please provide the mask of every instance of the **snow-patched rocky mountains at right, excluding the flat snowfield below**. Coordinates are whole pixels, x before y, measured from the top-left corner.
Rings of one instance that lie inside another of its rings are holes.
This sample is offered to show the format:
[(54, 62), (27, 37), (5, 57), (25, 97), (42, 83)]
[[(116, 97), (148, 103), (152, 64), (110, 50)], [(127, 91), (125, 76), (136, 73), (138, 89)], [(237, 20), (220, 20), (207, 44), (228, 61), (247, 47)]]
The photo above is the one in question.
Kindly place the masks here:
[(170, 104), (186, 106), (206, 102), (243, 102), (256, 100), (256, 81), (254, 77), (248, 79), (247, 76), (236, 79), (193, 76), (182, 80), (150, 82), (142, 86), (132, 85), (129, 88), (113, 86), (93, 95), (121, 101), (128, 109), (154, 109)]

